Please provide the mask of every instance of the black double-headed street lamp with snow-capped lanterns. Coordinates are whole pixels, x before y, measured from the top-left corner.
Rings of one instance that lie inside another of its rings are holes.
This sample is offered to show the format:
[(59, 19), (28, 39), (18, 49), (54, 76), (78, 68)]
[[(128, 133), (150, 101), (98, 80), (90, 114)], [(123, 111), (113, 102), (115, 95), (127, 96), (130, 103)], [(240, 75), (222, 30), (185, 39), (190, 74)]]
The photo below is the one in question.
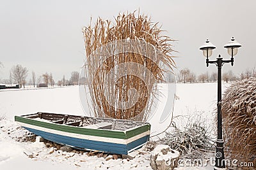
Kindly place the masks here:
[(216, 48), (216, 46), (212, 45), (210, 41), (207, 39), (204, 45), (200, 46), (200, 50), (203, 51), (204, 56), (206, 57), (206, 66), (209, 64), (216, 64), (218, 67), (218, 137), (216, 141), (216, 153), (215, 153), (215, 166), (214, 169), (225, 169), (225, 157), (223, 150), (223, 139), (222, 139), (222, 117), (221, 117), (221, 67), (225, 63), (231, 62), (231, 66), (234, 65), (234, 56), (237, 54), (237, 48), (242, 45), (238, 43), (234, 37), (232, 37), (231, 41), (229, 41), (224, 48), (228, 49), (228, 54), (231, 56), (230, 60), (223, 60), (221, 55), (216, 60), (209, 60), (208, 58), (212, 55), (212, 50)]

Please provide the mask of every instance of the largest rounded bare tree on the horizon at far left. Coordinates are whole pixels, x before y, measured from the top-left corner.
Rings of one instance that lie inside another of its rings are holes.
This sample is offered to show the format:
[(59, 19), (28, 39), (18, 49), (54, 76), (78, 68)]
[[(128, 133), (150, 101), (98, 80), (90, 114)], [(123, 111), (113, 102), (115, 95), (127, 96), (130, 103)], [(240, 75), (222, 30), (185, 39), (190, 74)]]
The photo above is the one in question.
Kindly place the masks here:
[(20, 64), (13, 66), (11, 69), (12, 79), (19, 83), (20, 87), (22, 87), (22, 82), (26, 81), (26, 77), (28, 75), (28, 69), (26, 67), (22, 67)]

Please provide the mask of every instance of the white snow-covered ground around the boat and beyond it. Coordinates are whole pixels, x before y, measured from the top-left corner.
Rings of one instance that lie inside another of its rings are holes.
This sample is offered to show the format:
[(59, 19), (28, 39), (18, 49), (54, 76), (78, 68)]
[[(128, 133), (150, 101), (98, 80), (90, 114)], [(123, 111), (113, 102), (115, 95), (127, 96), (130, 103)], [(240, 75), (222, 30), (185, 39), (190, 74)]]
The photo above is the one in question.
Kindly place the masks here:
[[(223, 91), (225, 90), (223, 85)], [(209, 124), (216, 107), (216, 83), (177, 84), (174, 115), (202, 113)], [(150, 152), (139, 154), (133, 160), (106, 160), (85, 153), (63, 153), (44, 143), (20, 142), (29, 132), (14, 122), (14, 115), (36, 113), (67, 113), (84, 115), (79, 103), (78, 87), (50, 89), (6, 89), (0, 90), (0, 169), (151, 169)], [(1, 118), (3, 118), (1, 120)], [(24, 152), (34, 155), (29, 159)], [(207, 167), (179, 167), (181, 169), (212, 169)]]

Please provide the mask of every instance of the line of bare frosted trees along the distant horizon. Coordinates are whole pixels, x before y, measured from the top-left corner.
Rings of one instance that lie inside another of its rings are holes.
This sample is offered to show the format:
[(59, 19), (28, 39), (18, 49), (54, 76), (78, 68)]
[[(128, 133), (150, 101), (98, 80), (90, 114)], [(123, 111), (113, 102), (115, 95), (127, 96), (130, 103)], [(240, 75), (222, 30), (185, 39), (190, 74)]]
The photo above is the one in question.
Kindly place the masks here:
[[(0, 62), (0, 69), (3, 68), (4, 65), (2, 62)], [(29, 82), (26, 81), (26, 78), (28, 76), (28, 68), (21, 66), (20, 64), (17, 64), (10, 69), (9, 79), (0, 79), (0, 83), (4, 84), (19, 84), (20, 87), (25, 88), (25, 85), (33, 85), (33, 87), (38, 87), (40, 83), (45, 83), (45, 85), (48, 87), (51, 85), (54, 87), (56, 82), (54, 81), (54, 78), (52, 76), (52, 73), (45, 72), (42, 75), (39, 75), (36, 78), (36, 74), (34, 71), (31, 72), (31, 79)], [(176, 77), (176, 78), (175, 78)], [(256, 68), (253, 69), (246, 69), (243, 73), (239, 74), (239, 76), (236, 76), (232, 71), (228, 71), (222, 74), (222, 80), (229, 82), (229, 81), (235, 81), (237, 79), (243, 80), (246, 78), (256, 77)], [(83, 78), (82, 78), (83, 79)], [(79, 81), (79, 72), (72, 71), (70, 74), (70, 78), (66, 79), (65, 75), (63, 75), (63, 78), (61, 80), (57, 81), (58, 86), (67, 86), (67, 85), (78, 85)], [(85, 83), (86, 80), (83, 80)], [(172, 73), (164, 74), (164, 81), (161, 81), (162, 83), (205, 83), (205, 82), (216, 82), (218, 81), (218, 74), (216, 72), (213, 72), (209, 74), (208, 72), (199, 74), (196, 76), (195, 73), (193, 73), (188, 68), (181, 69), (179, 73), (174, 76)]]

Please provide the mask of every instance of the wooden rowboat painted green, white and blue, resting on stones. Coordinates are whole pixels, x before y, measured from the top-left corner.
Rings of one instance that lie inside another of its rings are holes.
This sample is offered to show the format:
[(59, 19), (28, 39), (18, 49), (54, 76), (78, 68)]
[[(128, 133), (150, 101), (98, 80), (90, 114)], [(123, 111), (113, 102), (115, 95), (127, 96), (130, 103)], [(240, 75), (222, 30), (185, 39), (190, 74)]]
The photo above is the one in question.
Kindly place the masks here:
[(44, 139), (82, 150), (127, 155), (147, 143), (150, 124), (110, 118), (38, 112), (15, 122)]

